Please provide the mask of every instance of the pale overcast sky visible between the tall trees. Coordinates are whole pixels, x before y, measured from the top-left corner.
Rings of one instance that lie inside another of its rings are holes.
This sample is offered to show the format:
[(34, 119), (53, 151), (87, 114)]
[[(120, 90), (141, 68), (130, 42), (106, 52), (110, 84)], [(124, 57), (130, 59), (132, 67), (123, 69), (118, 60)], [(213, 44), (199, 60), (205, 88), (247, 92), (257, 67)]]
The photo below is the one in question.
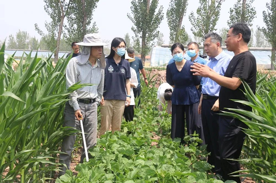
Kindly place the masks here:
[[(265, 4), (270, 0), (254, 0), (253, 6), (256, 7), (257, 17), (253, 20), (253, 28), (256, 26), (265, 26), (262, 19), (262, 11), (266, 10)], [(93, 14), (93, 20), (96, 21), (99, 33), (102, 39), (112, 40), (114, 37), (124, 37), (125, 33), (133, 36), (131, 30), (132, 22), (127, 18), (126, 14), (131, 13), (131, 0), (99, 0), (97, 8)], [(164, 34), (165, 43), (169, 42), (169, 27), (166, 18), (166, 11), (169, 7), (169, 0), (159, 0), (159, 5), (163, 5), (164, 19), (160, 24), (159, 31)], [(229, 19), (229, 8), (233, 7), (236, 0), (225, 0), (222, 3), (220, 18), (216, 28), (227, 27)], [(50, 17), (44, 10), (43, 0), (0, 0), (2, 12), (0, 16), (0, 40), (9, 37), (10, 34), (15, 35), (20, 30), (27, 31), (31, 36), (40, 38), (41, 36), (35, 30), (35, 23), (38, 23), (42, 30), (46, 30), (45, 21), (50, 21)], [(196, 12), (199, 6), (199, 0), (188, 0), (188, 7), (183, 23), (186, 31), (192, 36), (191, 23), (189, 22), (189, 14), (191, 11)], [(192, 36), (193, 37), (193, 36)], [(132, 39), (131, 39), (132, 40)]]

